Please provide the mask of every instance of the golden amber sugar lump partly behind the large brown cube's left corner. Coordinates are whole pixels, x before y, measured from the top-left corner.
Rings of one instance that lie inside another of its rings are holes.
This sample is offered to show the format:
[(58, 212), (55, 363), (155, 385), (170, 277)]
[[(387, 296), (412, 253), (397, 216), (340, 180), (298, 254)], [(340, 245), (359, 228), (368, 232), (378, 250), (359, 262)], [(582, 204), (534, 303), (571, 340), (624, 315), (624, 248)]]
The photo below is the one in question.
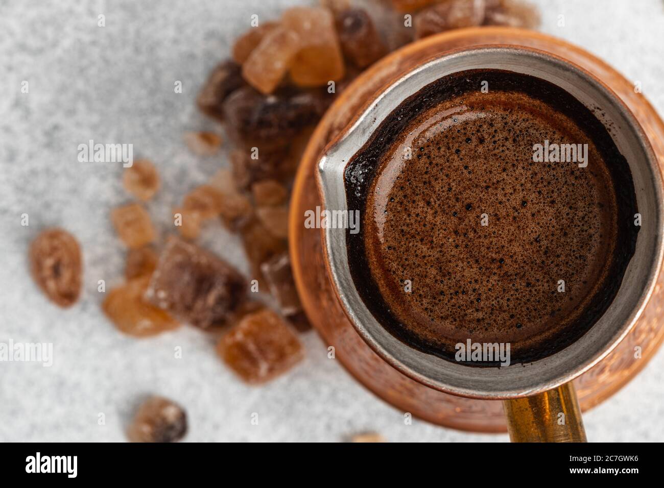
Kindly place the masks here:
[(121, 332), (134, 337), (149, 337), (179, 326), (179, 323), (143, 298), (150, 277), (141, 276), (112, 289), (102, 309)]

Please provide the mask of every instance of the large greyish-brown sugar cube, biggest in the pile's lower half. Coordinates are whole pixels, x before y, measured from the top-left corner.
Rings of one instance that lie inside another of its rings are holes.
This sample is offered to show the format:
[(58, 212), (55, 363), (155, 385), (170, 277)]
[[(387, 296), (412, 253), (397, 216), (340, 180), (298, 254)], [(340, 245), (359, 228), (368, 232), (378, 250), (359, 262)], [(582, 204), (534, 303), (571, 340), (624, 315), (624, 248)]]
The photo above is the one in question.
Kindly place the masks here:
[(145, 298), (201, 329), (224, 325), (246, 299), (244, 278), (195, 244), (169, 238)]

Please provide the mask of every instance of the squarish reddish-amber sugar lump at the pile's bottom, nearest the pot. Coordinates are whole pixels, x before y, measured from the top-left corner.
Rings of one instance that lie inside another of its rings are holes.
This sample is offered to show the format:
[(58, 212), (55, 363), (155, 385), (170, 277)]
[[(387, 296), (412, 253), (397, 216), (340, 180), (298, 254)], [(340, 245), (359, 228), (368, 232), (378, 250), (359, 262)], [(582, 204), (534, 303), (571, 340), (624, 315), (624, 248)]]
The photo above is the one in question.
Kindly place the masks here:
[(269, 309), (245, 315), (221, 338), (217, 351), (224, 363), (250, 384), (269, 381), (303, 358), (296, 333)]

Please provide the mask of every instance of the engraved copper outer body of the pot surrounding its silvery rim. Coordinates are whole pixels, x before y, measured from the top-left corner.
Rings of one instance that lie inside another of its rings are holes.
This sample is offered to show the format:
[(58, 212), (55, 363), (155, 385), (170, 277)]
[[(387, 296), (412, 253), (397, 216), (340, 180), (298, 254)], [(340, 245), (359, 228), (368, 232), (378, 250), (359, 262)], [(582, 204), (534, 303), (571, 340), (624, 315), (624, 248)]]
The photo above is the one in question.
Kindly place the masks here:
[[(315, 164), (327, 141), (336, 137), (362, 106), (394, 76), (424, 60), (455, 48), (484, 44), (530, 46), (585, 68), (629, 106), (647, 133), (664, 171), (664, 123), (641, 94), (616, 70), (588, 52), (553, 37), (502, 27), (461, 29), (426, 38), (387, 56), (361, 74), (319, 123), (305, 151), (291, 201), (291, 260), (297, 288), (311, 323), (326, 345), (335, 347), (339, 361), (369, 390), (404, 412), (434, 424), (475, 432), (506, 432), (502, 402), (475, 400), (442, 393), (404, 376), (374, 353), (357, 335), (337, 301), (321, 249), (318, 229), (303, 227), (305, 210), (320, 205)], [(664, 339), (659, 327), (664, 304), (664, 273), (659, 275), (643, 315), (627, 337), (604, 360), (575, 380), (582, 410), (588, 410), (619, 390), (654, 355)], [(641, 347), (641, 358), (635, 348)]]

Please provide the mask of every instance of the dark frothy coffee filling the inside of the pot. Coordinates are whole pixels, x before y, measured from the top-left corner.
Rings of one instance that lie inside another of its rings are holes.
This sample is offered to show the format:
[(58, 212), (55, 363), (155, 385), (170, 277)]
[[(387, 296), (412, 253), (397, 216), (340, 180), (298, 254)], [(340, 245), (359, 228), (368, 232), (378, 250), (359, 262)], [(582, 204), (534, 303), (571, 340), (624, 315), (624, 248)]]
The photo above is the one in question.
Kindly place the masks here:
[(467, 339), (509, 343), (512, 363), (564, 349), (606, 311), (635, 250), (627, 161), (588, 108), (532, 76), (470, 70), (426, 86), (345, 185), (362, 216), (347, 242), (363, 301), (450, 361)]

